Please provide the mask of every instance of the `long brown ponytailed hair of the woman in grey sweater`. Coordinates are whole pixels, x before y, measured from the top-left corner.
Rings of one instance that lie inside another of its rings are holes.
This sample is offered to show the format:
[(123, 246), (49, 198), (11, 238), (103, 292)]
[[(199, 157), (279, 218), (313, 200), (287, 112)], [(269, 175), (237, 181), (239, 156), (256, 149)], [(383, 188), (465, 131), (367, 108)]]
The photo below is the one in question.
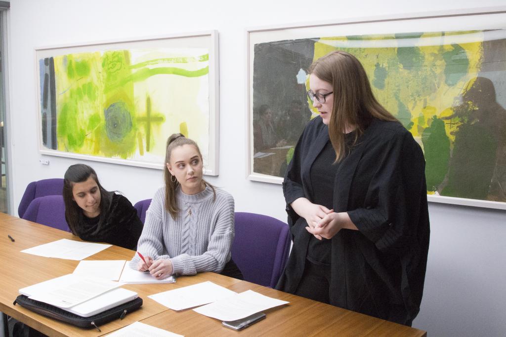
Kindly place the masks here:
[[(202, 154), (200, 153), (200, 149), (198, 148), (197, 143), (190, 139), (186, 138), (182, 133), (174, 133), (167, 139), (167, 146), (165, 152), (165, 165), (163, 166), (163, 179), (165, 180), (165, 210), (171, 213), (173, 219), (176, 218), (179, 212), (179, 207), (176, 201), (176, 188), (178, 187), (178, 180), (172, 181), (172, 174), (167, 168), (167, 164), (171, 161), (172, 150), (179, 146), (183, 145), (193, 145), (197, 150), (198, 156), (200, 160), (202, 160)], [(215, 186), (211, 185), (204, 179), (202, 182), (213, 189), (214, 198), (216, 199), (216, 190)]]

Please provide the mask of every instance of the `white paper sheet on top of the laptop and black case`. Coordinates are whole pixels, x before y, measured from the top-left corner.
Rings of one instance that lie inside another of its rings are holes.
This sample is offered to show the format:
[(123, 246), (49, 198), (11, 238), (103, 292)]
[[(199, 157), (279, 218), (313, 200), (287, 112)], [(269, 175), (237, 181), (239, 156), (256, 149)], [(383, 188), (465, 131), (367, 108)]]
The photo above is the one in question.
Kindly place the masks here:
[(70, 308), (119, 287), (119, 282), (67, 274), (19, 290), (30, 299)]

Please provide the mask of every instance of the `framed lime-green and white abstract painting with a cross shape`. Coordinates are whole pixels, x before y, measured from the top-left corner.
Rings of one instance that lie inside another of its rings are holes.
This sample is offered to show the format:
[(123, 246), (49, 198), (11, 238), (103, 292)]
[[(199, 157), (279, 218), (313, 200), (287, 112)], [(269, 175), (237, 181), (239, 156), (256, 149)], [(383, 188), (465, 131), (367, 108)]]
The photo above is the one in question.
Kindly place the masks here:
[(45, 155), (163, 168), (181, 132), (218, 175), (218, 33), (35, 50), (39, 149)]

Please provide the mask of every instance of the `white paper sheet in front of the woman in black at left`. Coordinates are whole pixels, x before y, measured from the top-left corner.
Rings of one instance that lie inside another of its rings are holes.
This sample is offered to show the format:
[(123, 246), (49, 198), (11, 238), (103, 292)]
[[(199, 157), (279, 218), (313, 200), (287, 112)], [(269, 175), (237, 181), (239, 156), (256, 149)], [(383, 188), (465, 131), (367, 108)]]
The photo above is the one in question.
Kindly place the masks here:
[(22, 250), (22, 253), (44, 256), (48, 258), (59, 258), (67, 260), (82, 260), (97, 254), (112, 245), (95, 244), (91, 242), (80, 242), (62, 238), (48, 244), (35, 246)]

